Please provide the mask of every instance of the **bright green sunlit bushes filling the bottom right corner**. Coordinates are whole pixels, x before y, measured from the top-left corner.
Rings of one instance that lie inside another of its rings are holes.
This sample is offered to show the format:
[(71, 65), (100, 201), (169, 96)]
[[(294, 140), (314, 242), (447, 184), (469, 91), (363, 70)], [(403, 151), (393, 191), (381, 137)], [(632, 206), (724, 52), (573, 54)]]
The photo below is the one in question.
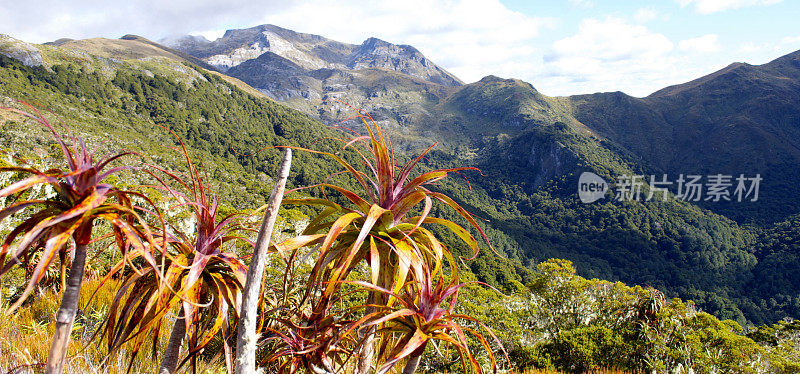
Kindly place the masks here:
[(745, 336), (736, 322), (653, 288), (576, 276), (566, 260), (540, 263), (535, 274), (529, 292), (499, 297), (470, 288), (465, 295), (464, 307), (493, 321), (518, 369), (798, 372), (796, 322)]

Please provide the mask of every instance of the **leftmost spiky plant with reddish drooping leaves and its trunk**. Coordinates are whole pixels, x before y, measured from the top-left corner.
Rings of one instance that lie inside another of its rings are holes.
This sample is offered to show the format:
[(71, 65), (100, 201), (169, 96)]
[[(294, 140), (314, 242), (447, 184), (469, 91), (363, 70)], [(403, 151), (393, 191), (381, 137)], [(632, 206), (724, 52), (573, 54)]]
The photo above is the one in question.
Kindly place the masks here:
[[(78, 298), (86, 268), (86, 257), (92, 242), (92, 231), (98, 221), (110, 225), (124, 256), (136, 254), (151, 268), (156, 266), (151, 251), (157, 250), (153, 234), (142, 208), (131, 203), (133, 197), (149, 201), (132, 191), (119, 189), (106, 183), (106, 178), (127, 166), (112, 167), (112, 163), (130, 152), (106, 157), (95, 157), (82, 139), (72, 137), (69, 146), (54, 127), (33, 106), (22, 103), (33, 113), (14, 108), (3, 108), (32, 119), (53, 134), (61, 149), (66, 168), (38, 170), (31, 166), (6, 167), (1, 172), (26, 175), (2, 190), (0, 197), (17, 197), (16, 201), (0, 211), (0, 219), (25, 211), (28, 216), (5, 238), (0, 249), (0, 276), (14, 266), (33, 268), (22, 296), (9, 312), (18, 308), (47, 274), (58, 256), (62, 264), (72, 257), (69, 278), (62, 290), (61, 305), (56, 313), (56, 331), (45, 367), (46, 373), (61, 373), (67, 354), (70, 333), (75, 321)], [(26, 199), (25, 192), (41, 185), (51, 186), (57, 194), (49, 199)], [(124, 243), (124, 244), (123, 244)], [(66, 256), (67, 252), (72, 256)]]

